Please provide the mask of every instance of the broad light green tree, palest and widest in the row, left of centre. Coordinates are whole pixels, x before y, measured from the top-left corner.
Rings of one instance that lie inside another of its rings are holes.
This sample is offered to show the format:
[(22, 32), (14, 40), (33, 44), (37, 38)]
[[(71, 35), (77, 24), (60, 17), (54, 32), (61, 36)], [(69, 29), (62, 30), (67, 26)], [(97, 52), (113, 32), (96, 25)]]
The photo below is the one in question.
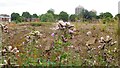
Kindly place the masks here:
[(54, 22), (54, 16), (51, 13), (42, 14), (40, 20), (42, 22)]

